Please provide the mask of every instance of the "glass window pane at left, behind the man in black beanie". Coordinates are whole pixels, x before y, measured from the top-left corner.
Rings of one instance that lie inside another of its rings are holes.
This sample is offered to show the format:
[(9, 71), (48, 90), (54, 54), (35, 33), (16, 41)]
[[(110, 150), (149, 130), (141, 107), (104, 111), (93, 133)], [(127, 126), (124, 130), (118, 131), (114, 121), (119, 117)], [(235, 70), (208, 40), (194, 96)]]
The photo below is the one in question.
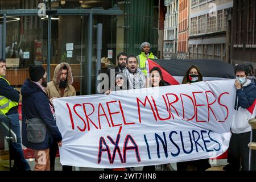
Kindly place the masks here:
[(6, 23), (6, 78), (19, 89), (28, 78), (28, 65), (47, 65), (47, 20), (13, 16)]

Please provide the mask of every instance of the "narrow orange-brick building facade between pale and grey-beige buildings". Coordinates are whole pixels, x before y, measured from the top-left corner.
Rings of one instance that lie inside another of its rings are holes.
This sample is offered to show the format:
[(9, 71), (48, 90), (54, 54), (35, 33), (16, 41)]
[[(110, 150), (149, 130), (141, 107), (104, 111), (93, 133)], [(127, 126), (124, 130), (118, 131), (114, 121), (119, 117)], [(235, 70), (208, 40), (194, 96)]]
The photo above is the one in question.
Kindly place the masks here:
[(189, 0), (179, 1), (179, 43), (177, 48), (177, 59), (188, 59), (189, 6)]

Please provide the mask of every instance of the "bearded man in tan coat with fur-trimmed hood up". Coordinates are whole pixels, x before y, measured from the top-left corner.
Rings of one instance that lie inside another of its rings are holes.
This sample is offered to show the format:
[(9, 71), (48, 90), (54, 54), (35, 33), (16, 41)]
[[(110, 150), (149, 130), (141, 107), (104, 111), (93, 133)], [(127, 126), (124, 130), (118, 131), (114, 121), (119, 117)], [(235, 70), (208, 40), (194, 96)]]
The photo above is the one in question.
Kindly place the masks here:
[[(76, 90), (72, 86), (73, 77), (71, 67), (68, 63), (60, 63), (56, 66), (53, 80), (48, 82), (46, 93), (50, 101), (54, 98), (76, 96)], [(54, 171), (55, 156), (58, 150), (57, 143), (50, 147), (49, 156), (51, 161), (51, 171)], [(63, 166), (63, 171), (72, 171), (72, 166)]]

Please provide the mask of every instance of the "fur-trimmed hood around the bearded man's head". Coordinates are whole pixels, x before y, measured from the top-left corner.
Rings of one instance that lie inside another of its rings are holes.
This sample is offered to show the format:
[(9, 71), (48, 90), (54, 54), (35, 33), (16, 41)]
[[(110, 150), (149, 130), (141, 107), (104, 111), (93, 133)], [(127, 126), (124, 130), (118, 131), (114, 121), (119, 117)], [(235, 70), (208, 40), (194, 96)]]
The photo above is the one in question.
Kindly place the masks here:
[(73, 76), (72, 76), (72, 71), (71, 71), (71, 67), (69, 66), (68, 63), (60, 63), (56, 66), (55, 71), (54, 71), (54, 76), (53, 76), (53, 82), (59, 86), (60, 85), (60, 77), (61, 77), (61, 71), (63, 70), (64, 67), (68, 68), (68, 75), (67, 75), (67, 86), (72, 85), (73, 84)]

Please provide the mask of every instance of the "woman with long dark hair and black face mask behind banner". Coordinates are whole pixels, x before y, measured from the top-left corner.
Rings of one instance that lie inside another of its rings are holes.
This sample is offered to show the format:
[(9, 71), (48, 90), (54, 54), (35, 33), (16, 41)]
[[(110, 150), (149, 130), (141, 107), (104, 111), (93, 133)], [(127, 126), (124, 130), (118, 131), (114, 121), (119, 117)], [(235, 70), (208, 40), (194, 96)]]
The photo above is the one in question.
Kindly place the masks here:
[[(203, 75), (197, 65), (191, 65), (182, 80), (182, 84), (192, 84), (203, 80)], [(177, 171), (205, 171), (210, 168), (209, 159), (193, 160), (177, 163)]]

